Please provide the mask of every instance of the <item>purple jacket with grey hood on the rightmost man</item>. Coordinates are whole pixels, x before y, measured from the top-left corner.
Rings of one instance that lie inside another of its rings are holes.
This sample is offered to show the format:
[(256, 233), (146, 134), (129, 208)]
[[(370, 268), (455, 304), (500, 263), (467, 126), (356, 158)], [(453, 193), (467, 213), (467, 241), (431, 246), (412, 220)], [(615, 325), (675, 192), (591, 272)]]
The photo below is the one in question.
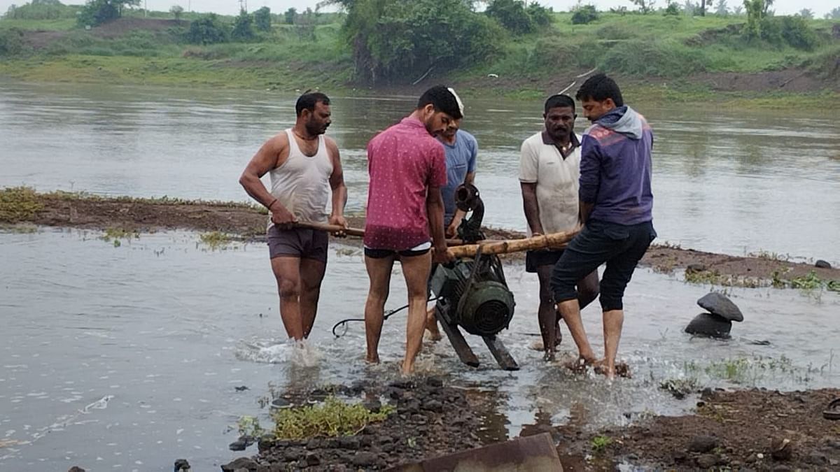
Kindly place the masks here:
[(589, 218), (632, 225), (653, 220), (650, 189), (654, 134), (633, 108), (613, 108), (585, 131), (580, 151), (580, 201)]

